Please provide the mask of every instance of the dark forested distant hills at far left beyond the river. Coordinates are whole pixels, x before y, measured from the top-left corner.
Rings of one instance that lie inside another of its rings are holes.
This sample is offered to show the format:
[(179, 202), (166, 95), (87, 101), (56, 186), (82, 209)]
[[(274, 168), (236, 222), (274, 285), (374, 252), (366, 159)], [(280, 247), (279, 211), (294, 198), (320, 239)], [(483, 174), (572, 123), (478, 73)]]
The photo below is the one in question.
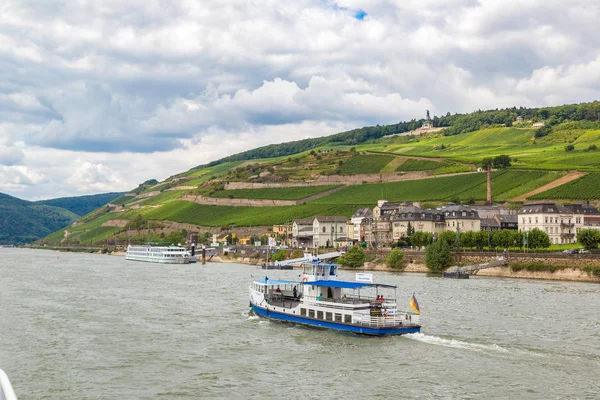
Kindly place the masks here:
[(120, 195), (106, 193), (30, 202), (0, 193), (0, 243), (31, 243)]

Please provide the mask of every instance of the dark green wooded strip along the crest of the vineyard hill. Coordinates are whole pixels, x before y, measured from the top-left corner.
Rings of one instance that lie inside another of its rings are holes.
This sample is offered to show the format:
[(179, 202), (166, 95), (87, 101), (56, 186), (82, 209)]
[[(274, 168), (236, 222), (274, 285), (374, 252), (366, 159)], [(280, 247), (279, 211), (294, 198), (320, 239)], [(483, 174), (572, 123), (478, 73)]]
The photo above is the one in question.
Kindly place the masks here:
[[(593, 101), (591, 103), (567, 104), (556, 107), (512, 107), (487, 111), (478, 110), (469, 114), (450, 114), (448, 112), (443, 116), (434, 116), (432, 118), (432, 123), (434, 127), (446, 128), (444, 134), (452, 136), (466, 132), (474, 132), (486, 127), (512, 126), (517, 117), (521, 117), (523, 120), (533, 122), (546, 121), (546, 128), (543, 132), (540, 132), (540, 136), (546, 136), (554, 125), (558, 125), (567, 120), (597, 121), (600, 115), (599, 113), (600, 102)], [(224, 157), (205, 165), (199, 165), (193, 169), (201, 169), (229, 161), (246, 161), (288, 156), (327, 145), (357, 145), (370, 140), (379, 139), (383, 136), (415, 130), (421, 127), (424, 121), (424, 119), (419, 119), (409, 122), (400, 122), (394, 125), (368, 126), (337, 133), (331, 136), (281, 144), (271, 144)]]

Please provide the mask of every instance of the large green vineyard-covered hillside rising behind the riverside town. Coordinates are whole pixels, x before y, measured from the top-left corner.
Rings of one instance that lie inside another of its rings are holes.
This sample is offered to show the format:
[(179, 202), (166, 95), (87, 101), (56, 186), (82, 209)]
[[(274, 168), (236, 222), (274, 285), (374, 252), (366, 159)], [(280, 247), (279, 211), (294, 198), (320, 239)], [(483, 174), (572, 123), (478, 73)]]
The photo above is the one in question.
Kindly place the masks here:
[[(296, 218), (349, 217), (379, 199), (481, 203), (485, 174), (477, 167), (498, 155), (509, 155), (512, 166), (492, 175), (496, 202), (518, 207), (530, 193), (600, 200), (590, 190), (600, 173), (600, 124), (591, 108), (600, 103), (446, 115), (432, 120), (441, 130), (411, 131), (421, 120), (266, 146), (144, 182), (45, 240), (142, 241), (232, 225), (266, 231)], [(563, 179), (567, 171), (573, 179)]]

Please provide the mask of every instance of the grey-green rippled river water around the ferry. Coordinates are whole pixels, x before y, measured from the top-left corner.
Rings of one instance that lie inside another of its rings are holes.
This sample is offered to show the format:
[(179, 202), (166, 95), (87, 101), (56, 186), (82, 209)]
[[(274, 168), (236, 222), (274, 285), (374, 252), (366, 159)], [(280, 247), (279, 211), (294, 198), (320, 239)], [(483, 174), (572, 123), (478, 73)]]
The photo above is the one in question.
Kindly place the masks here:
[(598, 284), (376, 272), (423, 328), (369, 338), (250, 316), (251, 274), (0, 249), (0, 368), (20, 399), (600, 398)]

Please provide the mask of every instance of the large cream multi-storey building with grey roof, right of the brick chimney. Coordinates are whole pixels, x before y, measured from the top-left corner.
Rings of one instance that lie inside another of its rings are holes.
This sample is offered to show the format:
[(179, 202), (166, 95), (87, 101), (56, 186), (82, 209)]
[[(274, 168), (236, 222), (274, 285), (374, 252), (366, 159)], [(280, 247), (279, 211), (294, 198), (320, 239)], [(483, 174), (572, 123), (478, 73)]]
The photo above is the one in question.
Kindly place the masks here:
[(537, 228), (546, 232), (553, 244), (575, 243), (577, 232), (584, 226), (584, 215), (555, 203), (525, 204), (519, 210), (518, 218), (520, 231)]

